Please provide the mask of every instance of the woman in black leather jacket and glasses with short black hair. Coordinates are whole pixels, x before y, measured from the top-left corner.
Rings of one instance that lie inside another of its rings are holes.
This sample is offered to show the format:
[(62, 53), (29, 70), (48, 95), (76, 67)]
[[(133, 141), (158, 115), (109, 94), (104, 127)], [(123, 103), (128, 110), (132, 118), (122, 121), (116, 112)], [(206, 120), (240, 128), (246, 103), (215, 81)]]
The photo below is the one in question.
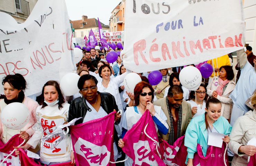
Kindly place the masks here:
[[(75, 118), (81, 119), (75, 122), (76, 124), (88, 122), (90, 120), (99, 119), (107, 116), (113, 111), (118, 111), (116, 100), (110, 93), (97, 91), (97, 79), (92, 75), (82, 75), (78, 80), (77, 87), (80, 89), (82, 96), (74, 99), (69, 108), (68, 122)], [(115, 121), (119, 123), (121, 116), (115, 114)], [(114, 159), (118, 157), (117, 151), (121, 151), (118, 144), (117, 131), (114, 131)], [(119, 148), (119, 149), (117, 149)]]

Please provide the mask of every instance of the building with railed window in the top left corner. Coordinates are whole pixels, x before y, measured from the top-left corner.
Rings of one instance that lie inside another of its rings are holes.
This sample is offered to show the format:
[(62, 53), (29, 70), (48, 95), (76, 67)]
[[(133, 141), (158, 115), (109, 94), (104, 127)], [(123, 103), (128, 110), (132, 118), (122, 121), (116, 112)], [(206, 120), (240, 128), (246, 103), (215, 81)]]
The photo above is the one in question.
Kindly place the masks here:
[(11, 15), (18, 23), (23, 23), (36, 2), (37, 0), (0, 0), (0, 11)]

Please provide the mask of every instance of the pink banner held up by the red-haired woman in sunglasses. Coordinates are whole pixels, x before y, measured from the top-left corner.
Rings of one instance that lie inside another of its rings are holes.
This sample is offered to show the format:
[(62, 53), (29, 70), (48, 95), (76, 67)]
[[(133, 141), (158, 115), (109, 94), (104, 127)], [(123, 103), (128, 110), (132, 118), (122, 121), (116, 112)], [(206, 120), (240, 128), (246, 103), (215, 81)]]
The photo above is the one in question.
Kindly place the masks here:
[(123, 138), (125, 146), (122, 150), (133, 160), (132, 166), (165, 166), (163, 160), (158, 156), (157, 143), (146, 136), (145, 127), (147, 135), (158, 142), (154, 121), (147, 110), (138, 122), (126, 132)]

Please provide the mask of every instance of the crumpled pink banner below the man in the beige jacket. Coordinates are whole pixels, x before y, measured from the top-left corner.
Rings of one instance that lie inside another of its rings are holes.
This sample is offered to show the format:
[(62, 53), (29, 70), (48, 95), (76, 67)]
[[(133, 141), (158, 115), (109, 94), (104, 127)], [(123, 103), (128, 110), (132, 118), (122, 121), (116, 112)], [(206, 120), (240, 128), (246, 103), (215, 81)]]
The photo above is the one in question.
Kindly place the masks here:
[(173, 146), (166, 141), (162, 141), (159, 144), (162, 160), (167, 166), (186, 166), (188, 152), (187, 147), (184, 146), (184, 138), (185, 136), (178, 138)]

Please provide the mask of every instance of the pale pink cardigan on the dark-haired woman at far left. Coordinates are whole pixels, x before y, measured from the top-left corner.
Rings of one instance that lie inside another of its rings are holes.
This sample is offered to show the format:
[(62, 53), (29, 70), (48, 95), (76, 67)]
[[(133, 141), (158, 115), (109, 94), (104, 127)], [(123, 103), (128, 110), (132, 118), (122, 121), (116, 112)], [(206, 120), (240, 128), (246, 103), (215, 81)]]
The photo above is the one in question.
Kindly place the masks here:
[[(1, 99), (1, 100), (3, 100), (3, 99)], [(30, 99), (26, 96), (25, 96), (22, 103), (28, 107), (29, 114), (30, 114), (29, 122), (26, 124), (26, 126), (24, 126), (24, 130), (31, 137), (35, 132), (32, 129), (32, 126), (37, 122), (37, 120), (36, 120), (36, 108), (39, 106), (39, 104), (35, 100)], [(0, 116), (1, 116), (1, 113), (0, 113)], [(3, 123), (0, 121), (0, 139), (1, 140), (3, 138), (2, 128), (3, 128)]]

